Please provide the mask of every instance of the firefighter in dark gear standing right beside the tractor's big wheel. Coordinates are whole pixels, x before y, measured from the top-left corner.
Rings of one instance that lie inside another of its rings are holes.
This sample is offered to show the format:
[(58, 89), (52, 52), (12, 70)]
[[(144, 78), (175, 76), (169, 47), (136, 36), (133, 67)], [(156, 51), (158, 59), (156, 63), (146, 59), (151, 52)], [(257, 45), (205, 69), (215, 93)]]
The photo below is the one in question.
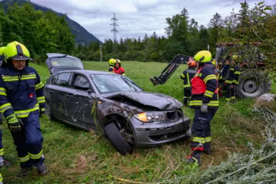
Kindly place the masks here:
[(235, 85), (239, 84), (239, 66), (236, 65), (237, 55), (233, 55), (226, 74), (226, 101), (235, 103)]

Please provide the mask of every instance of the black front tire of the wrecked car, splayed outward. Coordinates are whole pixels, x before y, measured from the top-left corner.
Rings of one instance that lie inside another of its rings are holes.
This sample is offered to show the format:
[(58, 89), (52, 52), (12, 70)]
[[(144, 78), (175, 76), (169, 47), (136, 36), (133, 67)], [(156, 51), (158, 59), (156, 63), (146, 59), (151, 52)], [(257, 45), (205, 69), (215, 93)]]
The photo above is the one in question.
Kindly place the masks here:
[(124, 136), (121, 134), (115, 123), (109, 123), (106, 125), (106, 127), (104, 127), (104, 133), (110, 143), (112, 143), (121, 155), (132, 154), (132, 146), (128, 143), (128, 141), (126, 141), (126, 139), (124, 139)]

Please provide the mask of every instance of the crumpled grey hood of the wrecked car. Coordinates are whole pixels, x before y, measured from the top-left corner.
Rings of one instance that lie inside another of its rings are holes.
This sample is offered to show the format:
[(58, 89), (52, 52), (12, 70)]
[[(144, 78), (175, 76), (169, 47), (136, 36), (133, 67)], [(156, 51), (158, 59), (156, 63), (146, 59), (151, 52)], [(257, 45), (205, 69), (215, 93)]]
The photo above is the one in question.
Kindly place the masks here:
[(157, 92), (114, 92), (103, 94), (102, 96), (108, 99), (116, 96), (124, 96), (132, 101), (136, 101), (142, 105), (152, 106), (159, 110), (175, 110), (182, 107), (182, 103), (177, 101), (177, 99)]

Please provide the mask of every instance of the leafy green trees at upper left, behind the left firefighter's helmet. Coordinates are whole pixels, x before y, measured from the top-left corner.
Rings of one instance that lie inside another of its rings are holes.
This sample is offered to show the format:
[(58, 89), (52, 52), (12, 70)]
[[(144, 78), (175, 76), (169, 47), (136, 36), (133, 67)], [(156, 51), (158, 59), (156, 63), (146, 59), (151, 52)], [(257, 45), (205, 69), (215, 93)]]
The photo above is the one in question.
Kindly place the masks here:
[(46, 53), (70, 54), (74, 50), (75, 37), (66, 23), (66, 17), (55, 12), (35, 10), (30, 2), (1, 10), (1, 41), (3, 45), (19, 41), (26, 45), (35, 61), (45, 61)]

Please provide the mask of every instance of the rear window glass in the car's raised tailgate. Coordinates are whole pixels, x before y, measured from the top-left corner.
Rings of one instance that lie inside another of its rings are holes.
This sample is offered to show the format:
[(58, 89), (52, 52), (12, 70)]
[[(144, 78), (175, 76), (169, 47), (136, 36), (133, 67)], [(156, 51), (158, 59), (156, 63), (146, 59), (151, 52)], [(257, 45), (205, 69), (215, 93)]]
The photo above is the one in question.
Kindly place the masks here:
[(83, 64), (79, 59), (74, 59), (70, 57), (52, 58), (51, 64), (53, 67), (69, 66), (83, 69)]

